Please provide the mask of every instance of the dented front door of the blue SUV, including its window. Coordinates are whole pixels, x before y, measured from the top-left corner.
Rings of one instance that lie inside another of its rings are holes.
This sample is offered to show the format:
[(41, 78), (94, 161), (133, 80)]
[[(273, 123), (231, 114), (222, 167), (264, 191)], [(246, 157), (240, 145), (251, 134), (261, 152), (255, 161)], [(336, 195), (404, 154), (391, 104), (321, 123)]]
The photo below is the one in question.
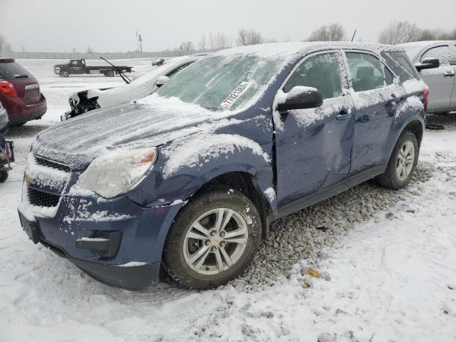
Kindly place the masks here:
[(343, 68), (339, 51), (313, 54), (300, 62), (282, 88), (284, 93), (295, 86), (317, 88), (323, 105), (274, 115), (278, 207), (348, 175), (354, 121)]

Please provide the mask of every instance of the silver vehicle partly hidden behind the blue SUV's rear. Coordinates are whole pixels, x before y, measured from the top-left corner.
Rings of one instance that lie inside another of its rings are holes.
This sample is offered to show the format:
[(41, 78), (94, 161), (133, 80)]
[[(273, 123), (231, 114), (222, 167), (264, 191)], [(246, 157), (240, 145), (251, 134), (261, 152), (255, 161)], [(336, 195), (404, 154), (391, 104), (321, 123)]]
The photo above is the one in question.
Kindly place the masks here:
[(429, 87), (427, 113), (448, 113), (456, 110), (456, 41), (418, 41), (399, 44), (418, 70), (437, 58), (438, 68), (423, 68), (420, 75)]

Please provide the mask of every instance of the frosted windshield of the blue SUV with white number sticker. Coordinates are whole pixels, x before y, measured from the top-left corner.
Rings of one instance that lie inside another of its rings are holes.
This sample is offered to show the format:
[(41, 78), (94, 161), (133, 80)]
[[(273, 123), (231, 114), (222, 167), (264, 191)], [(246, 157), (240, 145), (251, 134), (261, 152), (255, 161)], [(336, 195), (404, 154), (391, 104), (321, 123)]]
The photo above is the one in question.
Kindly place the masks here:
[(212, 56), (185, 68), (156, 93), (209, 110), (235, 110), (257, 100), (283, 62), (282, 56)]

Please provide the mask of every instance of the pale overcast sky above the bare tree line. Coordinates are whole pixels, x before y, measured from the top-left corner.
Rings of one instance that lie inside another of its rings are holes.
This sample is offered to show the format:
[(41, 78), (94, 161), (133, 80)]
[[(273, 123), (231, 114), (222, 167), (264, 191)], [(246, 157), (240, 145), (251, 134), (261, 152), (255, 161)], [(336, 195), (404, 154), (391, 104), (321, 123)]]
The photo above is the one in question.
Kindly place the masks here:
[(456, 28), (456, 0), (0, 0), (0, 33), (14, 51), (133, 51), (137, 30), (143, 51), (196, 45), (211, 31), (234, 38), (242, 27), (301, 41), (335, 22), (368, 42), (393, 20)]

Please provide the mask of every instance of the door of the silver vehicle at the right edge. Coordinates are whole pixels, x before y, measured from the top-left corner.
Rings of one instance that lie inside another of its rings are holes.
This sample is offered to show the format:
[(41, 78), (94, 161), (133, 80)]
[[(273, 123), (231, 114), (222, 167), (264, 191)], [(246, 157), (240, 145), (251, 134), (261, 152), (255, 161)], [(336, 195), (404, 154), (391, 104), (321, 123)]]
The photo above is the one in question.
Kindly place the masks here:
[(420, 61), (425, 58), (438, 58), (440, 67), (420, 71), (421, 77), (429, 87), (429, 113), (447, 112), (453, 88), (455, 88), (455, 66), (450, 64), (450, 46), (442, 44), (435, 46), (422, 54)]

